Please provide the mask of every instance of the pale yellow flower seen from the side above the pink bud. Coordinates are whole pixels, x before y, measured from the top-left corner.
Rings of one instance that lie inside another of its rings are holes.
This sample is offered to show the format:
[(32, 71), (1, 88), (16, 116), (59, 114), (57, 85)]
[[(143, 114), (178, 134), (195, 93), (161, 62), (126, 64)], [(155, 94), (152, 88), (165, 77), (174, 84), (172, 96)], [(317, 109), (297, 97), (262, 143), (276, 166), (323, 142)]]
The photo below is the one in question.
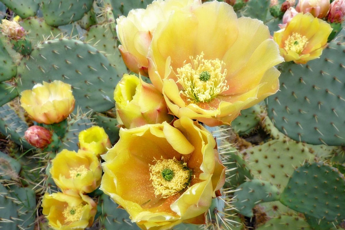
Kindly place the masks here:
[(62, 81), (36, 84), (32, 90), (21, 92), (21, 106), (29, 117), (45, 124), (59, 123), (73, 111), (75, 99), (71, 85)]

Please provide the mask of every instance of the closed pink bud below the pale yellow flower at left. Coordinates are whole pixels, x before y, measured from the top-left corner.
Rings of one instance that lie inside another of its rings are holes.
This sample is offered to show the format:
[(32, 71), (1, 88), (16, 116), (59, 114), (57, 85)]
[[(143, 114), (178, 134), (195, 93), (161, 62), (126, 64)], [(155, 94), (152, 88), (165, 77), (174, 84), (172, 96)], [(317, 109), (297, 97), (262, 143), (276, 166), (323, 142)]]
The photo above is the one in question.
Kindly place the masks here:
[(36, 148), (45, 148), (51, 142), (51, 132), (41, 126), (31, 126), (25, 131), (25, 139)]

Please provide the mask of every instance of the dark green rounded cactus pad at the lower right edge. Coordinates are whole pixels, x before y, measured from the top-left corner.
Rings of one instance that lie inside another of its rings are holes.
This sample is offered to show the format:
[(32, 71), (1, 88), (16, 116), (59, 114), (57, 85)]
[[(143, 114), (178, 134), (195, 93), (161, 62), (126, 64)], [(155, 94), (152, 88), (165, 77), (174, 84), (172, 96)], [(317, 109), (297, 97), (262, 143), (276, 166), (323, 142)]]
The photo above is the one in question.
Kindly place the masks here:
[(327, 221), (345, 218), (345, 178), (322, 162), (306, 163), (292, 174), (280, 197), (287, 207)]

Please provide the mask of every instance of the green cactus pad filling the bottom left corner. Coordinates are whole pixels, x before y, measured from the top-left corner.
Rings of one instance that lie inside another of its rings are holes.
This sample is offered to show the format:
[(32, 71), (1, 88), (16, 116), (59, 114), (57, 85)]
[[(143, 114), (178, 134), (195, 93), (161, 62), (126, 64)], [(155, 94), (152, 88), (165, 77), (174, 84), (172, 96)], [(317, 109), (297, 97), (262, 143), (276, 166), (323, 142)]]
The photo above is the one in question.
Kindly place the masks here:
[(0, 227), (6, 230), (33, 230), (36, 217), (36, 195), (29, 188), (0, 183)]

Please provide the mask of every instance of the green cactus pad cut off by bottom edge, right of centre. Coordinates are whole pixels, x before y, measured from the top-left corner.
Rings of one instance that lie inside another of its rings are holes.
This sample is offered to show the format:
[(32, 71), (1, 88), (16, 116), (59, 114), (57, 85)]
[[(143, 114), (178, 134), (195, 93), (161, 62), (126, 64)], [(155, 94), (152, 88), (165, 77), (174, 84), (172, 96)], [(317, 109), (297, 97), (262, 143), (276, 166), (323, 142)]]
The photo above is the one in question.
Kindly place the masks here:
[(311, 230), (308, 223), (298, 216), (279, 216), (272, 218), (257, 230)]

